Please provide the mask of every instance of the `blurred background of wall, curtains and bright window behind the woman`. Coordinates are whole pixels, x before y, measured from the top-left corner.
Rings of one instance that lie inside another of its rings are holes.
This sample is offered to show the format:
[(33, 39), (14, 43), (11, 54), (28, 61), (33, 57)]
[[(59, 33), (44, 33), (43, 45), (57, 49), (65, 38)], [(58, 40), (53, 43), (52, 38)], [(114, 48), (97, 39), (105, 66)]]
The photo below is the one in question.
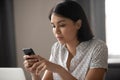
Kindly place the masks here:
[[(22, 48), (33, 48), (36, 54), (49, 59), (51, 46), (56, 39), (52, 33), (48, 14), (60, 1), (63, 0), (0, 1), (0, 67), (24, 69)], [(117, 4), (120, 3), (119, 0), (74, 1), (80, 3), (85, 10), (95, 36), (108, 45), (109, 69), (106, 80), (120, 80), (117, 76), (120, 73), (120, 37), (118, 37), (120, 25), (117, 22), (120, 17), (116, 14), (120, 12)], [(113, 5), (116, 7), (113, 8)], [(30, 74), (25, 70), (24, 72), (26, 78), (30, 80)]]

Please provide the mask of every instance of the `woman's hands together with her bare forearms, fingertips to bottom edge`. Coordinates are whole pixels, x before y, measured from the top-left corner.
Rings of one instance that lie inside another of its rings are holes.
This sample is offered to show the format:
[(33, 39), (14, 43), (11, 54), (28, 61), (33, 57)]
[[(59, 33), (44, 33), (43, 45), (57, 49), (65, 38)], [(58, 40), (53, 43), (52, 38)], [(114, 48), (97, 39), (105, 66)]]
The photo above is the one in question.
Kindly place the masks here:
[[(32, 80), (39, 80), (41, 72), (47, 70), (50, 72), (58, 73), (63, 80), (77, 80), (68, 71), (66, 71), (62, 66), (54, 64), (39, 55), (25, 55), (24, 56), (24, 66), (27, 71), (32, 73)], [(50, 75), (49, 75), (50, 76)], [(45, 75), (43, 80), (50, 80), (48, 75)], [(52, 80), (52, 79), (51, 79)]]

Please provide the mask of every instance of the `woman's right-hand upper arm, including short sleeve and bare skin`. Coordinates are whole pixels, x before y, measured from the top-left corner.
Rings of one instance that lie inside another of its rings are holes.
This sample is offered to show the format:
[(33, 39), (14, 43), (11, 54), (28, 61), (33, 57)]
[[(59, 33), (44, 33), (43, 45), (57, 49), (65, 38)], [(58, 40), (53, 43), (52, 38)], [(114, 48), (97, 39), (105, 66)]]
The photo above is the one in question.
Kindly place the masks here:
[(85, 80), (104, 80), (105, 73), (108, 67), (108, 49), (105, 43), (99, 42), (95, 46), (92, 55), (90, 67)]

